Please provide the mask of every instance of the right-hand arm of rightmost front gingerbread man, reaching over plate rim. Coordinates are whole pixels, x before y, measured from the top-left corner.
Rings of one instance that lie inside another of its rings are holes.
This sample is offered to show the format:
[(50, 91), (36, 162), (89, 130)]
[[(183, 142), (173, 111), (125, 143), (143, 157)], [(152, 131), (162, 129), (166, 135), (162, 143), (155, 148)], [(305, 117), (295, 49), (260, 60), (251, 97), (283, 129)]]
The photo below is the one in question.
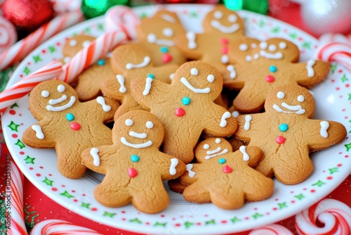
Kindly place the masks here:
[[(310, 151), (319, 151), (328, 148), (333, 144), (338, 144), (347, 135), (347, 130), (339, 122), (329, 120), (308, 120), (306, 124), (306, 134)], [(313, 129), (312, 129), (313, 128)]]

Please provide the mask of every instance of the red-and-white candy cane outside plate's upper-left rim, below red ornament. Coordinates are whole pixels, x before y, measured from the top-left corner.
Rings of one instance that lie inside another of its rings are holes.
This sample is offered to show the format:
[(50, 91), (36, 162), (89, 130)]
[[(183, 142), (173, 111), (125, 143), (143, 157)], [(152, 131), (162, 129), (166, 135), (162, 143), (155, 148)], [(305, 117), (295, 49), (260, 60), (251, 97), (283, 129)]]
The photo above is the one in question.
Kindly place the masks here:
[(65, 13), (53, 18), (53, 20), (39, 27), (38, 30), (29, 34), (25, 39), (20, 40), (6, 51), (0, 53), (0, 70), (21, 61), (42, 42), (45, 42), (65, 28), (79, 23), (81, 20), (83, 20), (83, 16), (80, 11)]

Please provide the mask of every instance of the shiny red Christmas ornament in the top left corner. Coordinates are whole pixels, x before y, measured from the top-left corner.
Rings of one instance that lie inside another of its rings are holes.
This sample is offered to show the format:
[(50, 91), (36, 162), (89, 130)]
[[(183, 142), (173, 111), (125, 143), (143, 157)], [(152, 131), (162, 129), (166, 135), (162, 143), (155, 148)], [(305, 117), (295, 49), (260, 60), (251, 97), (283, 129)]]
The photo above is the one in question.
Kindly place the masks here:
[(18, 30), (32, 32), (53, 18), (53, 4), (48, 0), (6, 0), (2, 15)]

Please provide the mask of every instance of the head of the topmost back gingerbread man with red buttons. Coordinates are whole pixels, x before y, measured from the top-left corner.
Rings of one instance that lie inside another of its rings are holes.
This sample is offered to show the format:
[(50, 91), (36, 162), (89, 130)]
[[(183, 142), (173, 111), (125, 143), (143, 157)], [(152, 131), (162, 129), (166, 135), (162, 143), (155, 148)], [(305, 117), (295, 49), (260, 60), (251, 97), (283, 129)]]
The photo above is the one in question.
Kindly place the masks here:
[(244, 22), (224, 5), (216, 6), (204, 18), (204, 31), (216, 34), (244, 34)]

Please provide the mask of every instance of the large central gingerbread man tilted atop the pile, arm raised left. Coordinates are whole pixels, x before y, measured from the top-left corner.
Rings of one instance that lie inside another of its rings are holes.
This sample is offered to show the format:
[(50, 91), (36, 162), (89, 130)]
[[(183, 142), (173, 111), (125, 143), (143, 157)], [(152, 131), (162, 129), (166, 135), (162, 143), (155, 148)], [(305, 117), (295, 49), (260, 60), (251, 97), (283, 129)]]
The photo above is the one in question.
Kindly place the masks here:
[(171, 84), (140, 78), (131, 82), (131, 93), (164, 124), (164, 153), (190, 163), (201, 132), (231, 136), (237, 129), (235, 118), (213, 102), (222, 86), (223, 77), (216, 68), (192, 61), (176, 70)]

